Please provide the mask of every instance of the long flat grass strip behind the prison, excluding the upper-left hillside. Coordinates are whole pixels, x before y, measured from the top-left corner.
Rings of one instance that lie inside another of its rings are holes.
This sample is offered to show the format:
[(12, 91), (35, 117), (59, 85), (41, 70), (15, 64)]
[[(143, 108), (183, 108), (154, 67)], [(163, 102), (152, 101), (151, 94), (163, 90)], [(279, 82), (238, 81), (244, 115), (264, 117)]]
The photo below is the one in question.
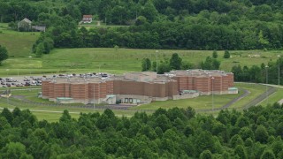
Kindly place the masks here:
[[(101, 72), (123, 73), (138, 72), (142, 70), (142, 59), (149, 57), (151, 61), (164, 61), (170, 59), (172, 53), (177, 52), (185, 62), (196, 66), (211, 56), (210, 50), (170, 50), (161, 49), (54, 49), (49, 55), (42, 58), (24, 57), (25, 53), (18, 57), (11, 57), (4, 61), (0, 75), (42, 74), (58, 72)], [(241, 50), (230, 51), (232, 57), (224, 59), (224, 51), (218, 51), (218, 60), (221, 61), (220, 69), (231, 71), (233, 65), (267, 64), (276, 61), (277, 56), (283, 56), (283, 51)], [(236, 55), (241, 55), (238, 57)], [(261, 55), (261, 57), (249, 57), (249, 55)], [(6, 71), (9, 69), (9, 72)]]

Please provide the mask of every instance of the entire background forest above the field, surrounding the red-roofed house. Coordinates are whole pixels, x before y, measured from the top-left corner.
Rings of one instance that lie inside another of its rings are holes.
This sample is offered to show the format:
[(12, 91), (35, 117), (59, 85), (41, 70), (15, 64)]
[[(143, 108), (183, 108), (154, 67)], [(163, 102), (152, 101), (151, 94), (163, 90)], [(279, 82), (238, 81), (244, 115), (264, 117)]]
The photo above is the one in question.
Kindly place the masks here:
[[(78, 28), (84, 14), (107, 25)], [(0, 0), (0, 21), (48, 27), (34, 52), (57, 48), (282, 49), (281, 0)], [(45, 37), (47, 42), (44, 43)], [(36, 49), (37, 48), (37, 49)], [(52, 48), (52, 47), (51, 47)]]

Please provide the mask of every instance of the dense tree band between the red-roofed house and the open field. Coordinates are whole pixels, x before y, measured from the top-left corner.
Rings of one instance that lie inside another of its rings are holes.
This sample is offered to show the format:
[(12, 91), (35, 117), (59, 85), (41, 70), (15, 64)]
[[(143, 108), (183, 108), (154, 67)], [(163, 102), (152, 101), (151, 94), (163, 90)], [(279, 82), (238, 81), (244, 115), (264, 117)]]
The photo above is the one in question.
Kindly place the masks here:
[(113, 48), (117, 45), (133, 49), (281, 49), (283, 26), (260, 21), (242, 23), (251, 27), (162, 21), (90, 30), (84, 27), (61, 30), (54, 26), (47, 34), (57, 48)]

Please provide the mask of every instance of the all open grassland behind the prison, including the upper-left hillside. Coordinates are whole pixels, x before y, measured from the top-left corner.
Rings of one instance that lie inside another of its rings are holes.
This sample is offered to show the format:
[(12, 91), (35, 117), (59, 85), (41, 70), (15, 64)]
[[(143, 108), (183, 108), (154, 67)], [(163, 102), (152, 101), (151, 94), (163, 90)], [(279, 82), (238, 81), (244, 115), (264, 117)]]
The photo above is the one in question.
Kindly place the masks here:
[[(88, 25), (87, 25), (88, 26)], [(89, 25), (91, 26), (91, 25)], [(102, 24), (102, 26), (104, 26)], [(0, 76), (42, 74), (59, 72), (139, 72), (142, 59), (148, 57), (158, 64), (169, 61), (173, 53), (178, 53), (183, 62), (194, 64), (195, 68), (212, 50), (174, 50), (174, 49), (53, 49), (49, 55), (34, 57), (32, 46), (40, 33), (17, 32), (9, 29), (8, 24), (0, 23), (0, 44), (9, 52), (9, 59), (3, 62)], [(230, 72), (233, 65), (267, 64), (283, 57), (283, 50), (231, 50), (231, 58), (223, 58), (224, 50), (218, 51), (220, 70)]]

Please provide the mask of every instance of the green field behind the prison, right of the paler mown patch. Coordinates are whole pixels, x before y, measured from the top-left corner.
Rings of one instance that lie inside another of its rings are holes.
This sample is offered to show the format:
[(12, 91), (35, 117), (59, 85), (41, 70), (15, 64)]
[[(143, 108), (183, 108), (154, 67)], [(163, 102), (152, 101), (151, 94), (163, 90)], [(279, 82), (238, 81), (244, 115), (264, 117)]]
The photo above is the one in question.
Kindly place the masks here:
[[(218, 51), (220, 69), (231, 71), (233, 65), (242, 66), (267, 64), (276, 61), (277, 56), (283, 56), (283, 51), (237, 50), (230, 51), (232, 57), (223, 58), (224, 51)], [(198, 67), (206, 57), (212, 55), (211, 50), (173, 50), (173, 49), (54, 49), (50, 55), (42, 57), (42, 68), (61, 69), (99, 69), (123, 71), (141, 71), (142, 59), (148, 57), (158, 64), (169, 60), (173, 53), (178, 53), (184, 62)], [(257, 56), (256, 56), (257, 55)], [(254, 56), (254, 57), (253, 57)]]

